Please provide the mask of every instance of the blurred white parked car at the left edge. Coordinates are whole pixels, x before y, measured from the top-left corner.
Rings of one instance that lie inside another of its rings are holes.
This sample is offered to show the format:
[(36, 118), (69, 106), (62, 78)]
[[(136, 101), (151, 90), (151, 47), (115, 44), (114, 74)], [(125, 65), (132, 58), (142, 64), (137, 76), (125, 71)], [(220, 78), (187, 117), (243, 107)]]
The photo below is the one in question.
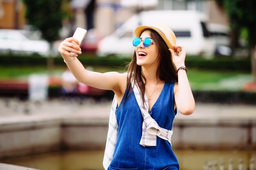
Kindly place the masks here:
[(38, 53), (43, 56), (49, 55), (50, 44), (41, 40), (25, 30), (0, 29), (0, 53)]

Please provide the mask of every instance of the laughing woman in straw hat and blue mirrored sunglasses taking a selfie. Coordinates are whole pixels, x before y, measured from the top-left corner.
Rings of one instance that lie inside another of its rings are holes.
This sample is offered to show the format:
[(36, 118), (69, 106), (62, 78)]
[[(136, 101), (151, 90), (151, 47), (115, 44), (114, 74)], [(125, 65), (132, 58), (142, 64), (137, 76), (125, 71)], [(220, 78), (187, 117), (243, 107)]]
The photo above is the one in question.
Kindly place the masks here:
[(135, 37), (127, 73), (86, 70), (76, 58), (80, 44), (72, 37), (58, 51), (79, 82), (115, 93), (105, 169), (179, 170), (171, 146), (173, 120), (177, 109), (183, 115), (195, 109), (184, 65), (186, 51), (175, 45), (173, 31), (161, 23), (138, 26)]

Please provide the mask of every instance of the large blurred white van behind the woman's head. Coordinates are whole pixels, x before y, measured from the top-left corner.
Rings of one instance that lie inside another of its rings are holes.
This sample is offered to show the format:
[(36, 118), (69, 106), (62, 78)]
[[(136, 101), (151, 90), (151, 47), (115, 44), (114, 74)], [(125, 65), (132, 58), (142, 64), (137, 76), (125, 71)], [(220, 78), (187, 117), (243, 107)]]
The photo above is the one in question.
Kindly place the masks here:
[(196, 11), (142, 11), (133, 15), (112, 35), (103, 38), (98, 45), (97, 54), (131, 55), (134, 29), (139, 25), (152, 25), (162, 22), (176, 35), (176, 44), (184, 46), (189, 55), (211, 56), (215, 51), (214, 40), (209, 37), (207, 17)]

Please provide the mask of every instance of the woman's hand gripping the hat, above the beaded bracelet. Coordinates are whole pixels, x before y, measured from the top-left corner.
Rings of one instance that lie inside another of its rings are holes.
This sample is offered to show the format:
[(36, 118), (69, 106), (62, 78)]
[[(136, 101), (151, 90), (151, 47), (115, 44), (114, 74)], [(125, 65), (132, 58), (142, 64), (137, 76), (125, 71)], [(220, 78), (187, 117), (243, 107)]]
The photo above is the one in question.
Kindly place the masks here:
[[(180, 68), (181, 66), (185, 66), (185, 57), (186, 57), (186, 51), (184, 47), (182, 46), (173, 46), (173, 49), (169, 49), (171, 51), (171, 57), (173, 59), (173, 64), (176, 66), (176, 68)], [(175, 52), (177, 55), (175, 55)]]

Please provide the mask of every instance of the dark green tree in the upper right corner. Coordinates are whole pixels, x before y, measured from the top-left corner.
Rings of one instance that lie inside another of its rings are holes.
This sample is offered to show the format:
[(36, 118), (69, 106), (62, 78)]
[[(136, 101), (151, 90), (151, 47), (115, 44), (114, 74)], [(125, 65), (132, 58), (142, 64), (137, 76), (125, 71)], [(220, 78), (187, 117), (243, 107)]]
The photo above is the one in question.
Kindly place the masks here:
[(251, 50), (252, 75), (256, 83), (256, 0), (216, 0), (224, 8), (231, 28), (247, 30), (248, 47)]

